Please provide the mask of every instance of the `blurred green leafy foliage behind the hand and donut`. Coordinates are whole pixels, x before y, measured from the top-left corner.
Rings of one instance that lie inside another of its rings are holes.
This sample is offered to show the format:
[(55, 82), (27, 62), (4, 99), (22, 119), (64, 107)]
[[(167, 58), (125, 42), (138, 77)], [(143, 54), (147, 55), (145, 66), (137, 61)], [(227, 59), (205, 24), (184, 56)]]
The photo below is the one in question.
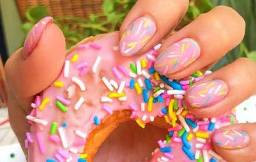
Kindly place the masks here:
[[(102, 3), (102, 12), (91, 14), (87, 19), (81, 17), (64, 16), (54, 17), (54, 22), (61, 28), (66, 37), (67, 49), (81, 41), (85, 37), (95, 36), (97, 34), (118, 31), (126, 14), (134, 6), (136, 0), (105, 0)], [(183, 27), (196, 19), (200, 14), (210, 11), (212, 7), (225, 5), (237, 10), (247, 22), (247, 32), (244, 42), (230, 51), (213, 70), (230, 64), (239, 57), (249, 57), (256, 61), (256, 1), (255, 0), (191, 0), (187, 14), (184, 16), (180, 25)], [(26, 12), (26, 19), (22, 26), (22, 32), (26, 35), (32, 26), (42, 17), (49, 16), (47, 8), (44, 6), (31, 7)], [(249, 52), (251, 50), (251, 52)]]

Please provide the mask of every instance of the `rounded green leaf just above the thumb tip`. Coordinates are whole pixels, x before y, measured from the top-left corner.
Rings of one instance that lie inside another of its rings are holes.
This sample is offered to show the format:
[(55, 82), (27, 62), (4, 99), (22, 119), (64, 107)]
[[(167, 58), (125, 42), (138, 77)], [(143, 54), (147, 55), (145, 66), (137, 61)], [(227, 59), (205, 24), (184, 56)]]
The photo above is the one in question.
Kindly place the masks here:
[(26, 18), (31, 22), (38, 22), (43, 17), (49, 16), (47, 8), (45, 6), (36, 6), (27, 9)]

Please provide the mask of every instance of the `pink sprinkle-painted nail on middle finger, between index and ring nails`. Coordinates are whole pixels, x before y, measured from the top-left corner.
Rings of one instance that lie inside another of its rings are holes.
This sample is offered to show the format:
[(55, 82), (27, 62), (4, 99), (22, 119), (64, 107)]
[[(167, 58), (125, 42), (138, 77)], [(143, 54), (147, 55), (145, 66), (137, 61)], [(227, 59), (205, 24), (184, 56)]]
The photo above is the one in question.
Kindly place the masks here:
[(155, 70), (168, 75), (185, 69), (200, 55), (200, 47), (193, 39), (185, 38), (165, 49), (155, 61)]

